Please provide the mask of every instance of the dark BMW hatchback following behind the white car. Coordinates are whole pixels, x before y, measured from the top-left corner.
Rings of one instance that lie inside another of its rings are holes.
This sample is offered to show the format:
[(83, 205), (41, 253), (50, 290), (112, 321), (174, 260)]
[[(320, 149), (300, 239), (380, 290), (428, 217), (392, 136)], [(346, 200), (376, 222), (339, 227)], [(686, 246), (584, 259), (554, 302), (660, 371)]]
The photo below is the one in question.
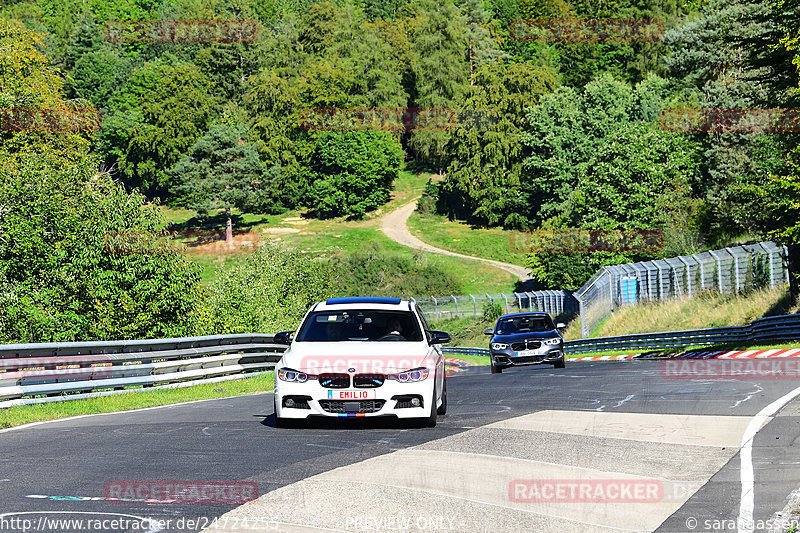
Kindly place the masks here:
[(491, 335), (492, 374), (512, 366), (551, 364), (564, 368), (564, 339), (547, 313), (513, 313), (497, 319)]

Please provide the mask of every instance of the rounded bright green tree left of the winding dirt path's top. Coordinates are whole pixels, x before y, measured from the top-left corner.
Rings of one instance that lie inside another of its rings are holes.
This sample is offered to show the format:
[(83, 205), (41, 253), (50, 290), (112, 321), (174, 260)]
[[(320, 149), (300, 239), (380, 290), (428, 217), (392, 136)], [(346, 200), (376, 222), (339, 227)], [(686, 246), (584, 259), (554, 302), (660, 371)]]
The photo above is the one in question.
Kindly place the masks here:
[(308, 206), (324, 218), (360, 218), (389, 200), (402, 162), (403, 150), (388, 133), (325, 133), (312, 157)]

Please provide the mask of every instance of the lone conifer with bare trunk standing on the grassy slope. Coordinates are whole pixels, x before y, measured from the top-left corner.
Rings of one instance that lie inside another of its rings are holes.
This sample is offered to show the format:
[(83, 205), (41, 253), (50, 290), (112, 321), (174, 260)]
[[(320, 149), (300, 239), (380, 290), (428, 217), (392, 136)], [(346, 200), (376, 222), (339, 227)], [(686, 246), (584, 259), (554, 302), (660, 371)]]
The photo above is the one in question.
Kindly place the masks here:
[(264, 212), (276, 169), (265, 171), (254, 144), (241, 126), (216, 124), (192, 145), (170, 172), (178, 202), (201, 213), (225, 209), (225, 240), (233, 244), (231, 209)]

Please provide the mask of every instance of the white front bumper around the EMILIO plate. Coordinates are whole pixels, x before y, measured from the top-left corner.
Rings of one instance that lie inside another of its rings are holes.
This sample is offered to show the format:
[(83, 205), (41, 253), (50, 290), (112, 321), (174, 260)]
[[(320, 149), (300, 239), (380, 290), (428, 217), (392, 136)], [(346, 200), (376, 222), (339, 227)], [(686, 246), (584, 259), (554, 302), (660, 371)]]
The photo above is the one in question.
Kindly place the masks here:
[[(381, 416), (427, 418), (431, 412), (430, 402), (435, 401), (433, 386), (433, 375), (417, 383), (387, 380), (380, 387), (347, 389), (327, 389), (316, 380), (306, 383), (278, 380), (275, 384), (275, 409), (277, 416), (290, 419)], [(353, 391), (354, 394), (346, 400), (338, 399), (339, 392), (345, 390)], [(419, 400), (419, 407), (413, 406), (413, 398)], [(286, 405), (289, 399), (294, 402), (293, 407)]]

